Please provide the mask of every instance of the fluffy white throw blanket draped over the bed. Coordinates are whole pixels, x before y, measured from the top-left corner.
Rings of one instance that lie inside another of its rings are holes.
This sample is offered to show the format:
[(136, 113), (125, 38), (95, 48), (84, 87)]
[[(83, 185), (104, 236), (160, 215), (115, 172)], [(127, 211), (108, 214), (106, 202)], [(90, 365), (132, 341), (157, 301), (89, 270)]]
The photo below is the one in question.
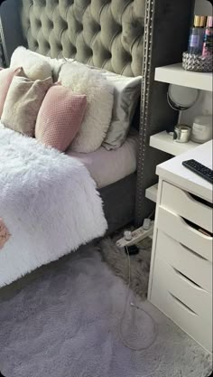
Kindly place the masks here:
[(0, 248), (0, 287), (77, 250), (107, 228), (96, 184), (84, 165), (2, 124), (0, 218), (10, 233)]

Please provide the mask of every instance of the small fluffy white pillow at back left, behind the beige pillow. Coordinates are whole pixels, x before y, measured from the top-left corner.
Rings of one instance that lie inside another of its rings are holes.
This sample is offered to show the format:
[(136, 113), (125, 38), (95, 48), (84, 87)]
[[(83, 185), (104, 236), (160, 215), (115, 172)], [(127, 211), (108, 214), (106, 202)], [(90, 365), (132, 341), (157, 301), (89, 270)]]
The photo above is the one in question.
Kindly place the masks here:
[(14, 50), (10, 66), (13, 68), (23, 67), (26, 76), (34, 80), (46, 80), (51, 77), (51, 64), (25, 47), (20, 46)]

